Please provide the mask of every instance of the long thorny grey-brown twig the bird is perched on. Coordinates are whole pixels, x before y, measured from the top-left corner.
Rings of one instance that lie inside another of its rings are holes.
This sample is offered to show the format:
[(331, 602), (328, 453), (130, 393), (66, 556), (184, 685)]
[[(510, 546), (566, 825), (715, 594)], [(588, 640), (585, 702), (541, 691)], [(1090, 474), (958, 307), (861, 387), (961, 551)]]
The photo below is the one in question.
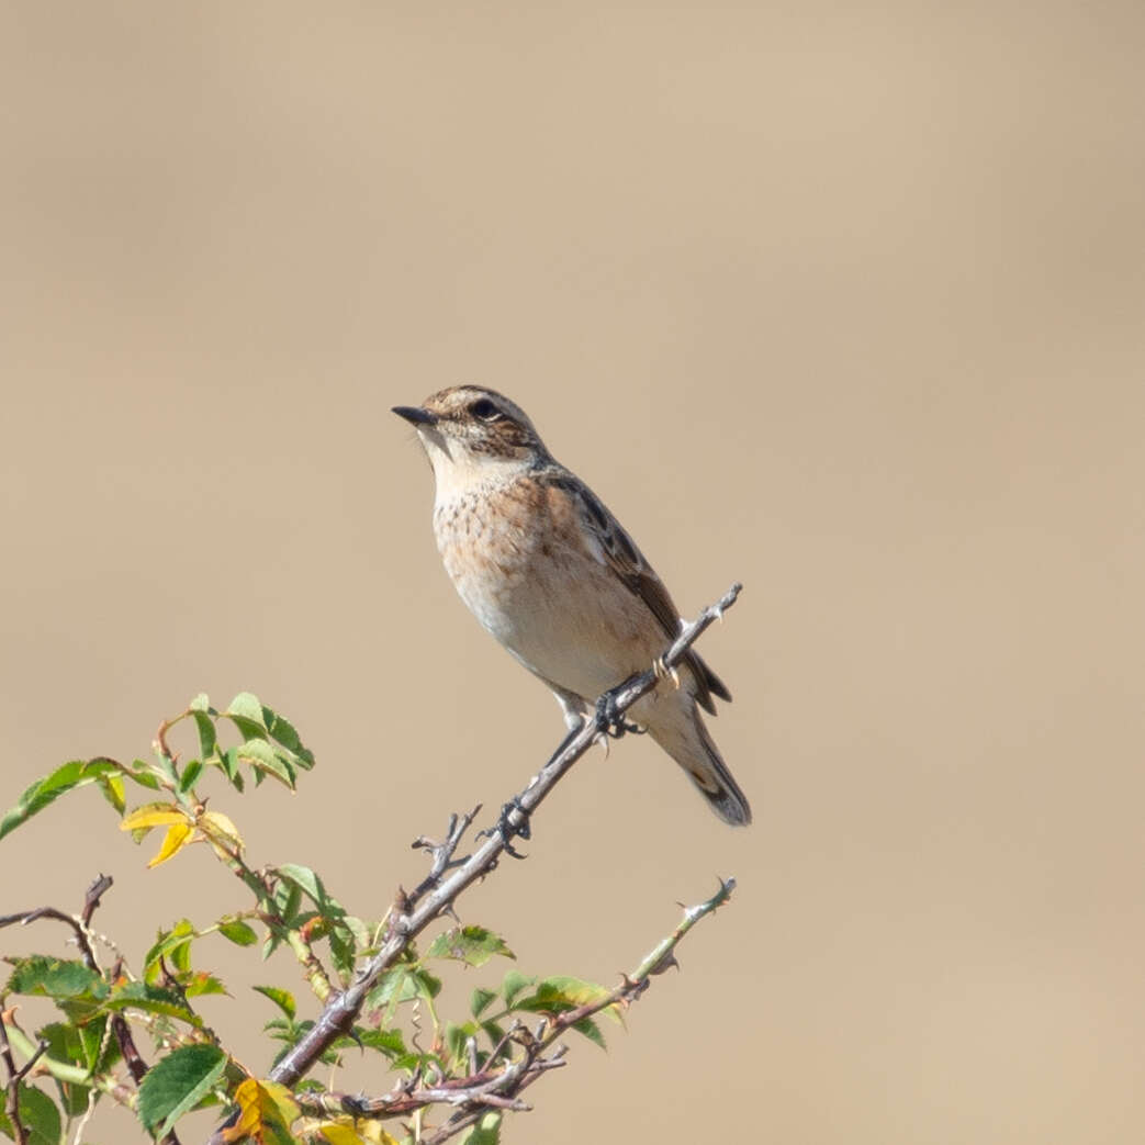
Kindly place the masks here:
[[(720, 600), (705, 608), (690, 624), (685, 624), (656, 666), (614, 688), (608, 694), (613, 713), (623, 714), (638, 700), (652, 692), (662, 678), (662, 672), (657, 671), (657, 668), (671, 670), (679, 664), (709, 625), (722, 618), (724, 611), (735, 603), (741, 589), (742, 585), (732, 585)], [(506, 805), (505, 814), (492, 834), (457, 867), (449, 878), (427, 889), (413, 909), (395, 909), (390, 933), (381, 949), (358, 969), (354, 980), (345, 990), (331, 995), (314, 1026), (270, 1071), (271, 1081), (293, 1087), (308, 1073), (334, 1041), (348, 1033), (362, 1012), (366, 995), (381, 976), (397, 962), (410, 942), (439, 915), (451, 909), (453, 901), (466, 887), (497, 866), (498, 858), (511, 845), (514, 830), (528, 821), (529, 815), (540, 806), (569, 768), (592, 747), (597, 737), (607, 731), (603, 717), (600, 714), (601, 710), (601, 705), (598, 704), (595, 718), (586, 719), (578, 731), (564, 740), (552, 759), (529, 781), (524, 790), (512, 804)]]

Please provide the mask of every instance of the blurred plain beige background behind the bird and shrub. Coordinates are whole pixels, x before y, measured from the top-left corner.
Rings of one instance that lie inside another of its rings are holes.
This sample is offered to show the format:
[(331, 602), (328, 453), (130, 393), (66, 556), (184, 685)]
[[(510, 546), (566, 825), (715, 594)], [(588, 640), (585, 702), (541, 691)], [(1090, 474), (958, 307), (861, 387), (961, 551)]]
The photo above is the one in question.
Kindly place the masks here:
[[(745, 583), (702, 647), (756, 811), (625, 741), (465, 900), (613, 980), (740, 879), (506, 1140), (1139, 1140), (1143, 52), (1131, 0), (9, 0), (0, 803), (248, 688), (319, 766), (215, 806), (380, 913), (562, 734), (389, 413), (483, 381), (687, 614)], [(0, 911), (114, 875), (136, 958), (244, 905), (93, 791), (0, 846)], [(295, 970), (204, 956), (258, 1067)]]

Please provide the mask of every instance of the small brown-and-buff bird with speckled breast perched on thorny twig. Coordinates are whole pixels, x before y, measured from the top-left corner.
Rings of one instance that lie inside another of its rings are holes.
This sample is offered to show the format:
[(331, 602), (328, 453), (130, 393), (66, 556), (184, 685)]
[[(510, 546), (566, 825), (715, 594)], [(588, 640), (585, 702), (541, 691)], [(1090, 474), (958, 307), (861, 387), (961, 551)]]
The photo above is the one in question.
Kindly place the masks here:
[[(452, 386), (393, 412), (433, 467), (434, 536), (461, 600), (546, 684), (570, 732), (597, 697), (658, 657), (680, 632), (663, 581), (595, 493), (550, 453), (524, 411), (483, 386)], [(751, 822), (700, 709), (729, 701), (689, 650), (627, 714), (676, 760), (726, 823)]]

